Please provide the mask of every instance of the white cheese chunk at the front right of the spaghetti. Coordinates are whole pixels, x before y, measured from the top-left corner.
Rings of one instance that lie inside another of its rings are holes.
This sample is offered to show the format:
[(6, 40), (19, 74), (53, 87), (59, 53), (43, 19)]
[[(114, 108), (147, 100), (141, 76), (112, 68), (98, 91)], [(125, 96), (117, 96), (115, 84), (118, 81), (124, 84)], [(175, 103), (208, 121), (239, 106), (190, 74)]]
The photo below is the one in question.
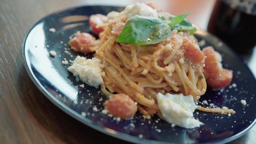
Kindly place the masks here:
[(196, 128), (203, 124), (192, 118), (197, 106), (191, 95), (158, 93), (157, 102), (164, 120), (170, 124), (184, 128)]

